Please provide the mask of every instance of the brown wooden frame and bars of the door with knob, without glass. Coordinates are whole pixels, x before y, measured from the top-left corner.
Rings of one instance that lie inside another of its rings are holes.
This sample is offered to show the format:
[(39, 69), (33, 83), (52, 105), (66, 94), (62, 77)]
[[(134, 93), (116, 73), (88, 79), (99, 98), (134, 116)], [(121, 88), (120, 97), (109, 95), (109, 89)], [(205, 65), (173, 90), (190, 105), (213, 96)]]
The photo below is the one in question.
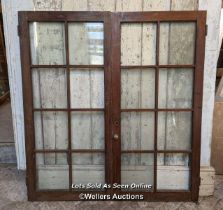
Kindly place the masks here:
[[(205, 55), (205, 33), (206, 33), (206, 12), (120, 12), (113, 16), (113, 72), (112, 72), (112, 107), (113, 110), (113, 133), (121, 136), (121, 88), (117, 84), (121, 84), (121, 24), (122, 23), (156, 23), (156, 37), (160, 35), (160, 23), (163, 22), (194, 22), (196, 24), (196, 40), (195, 40), (195, 62), (193, 65), (160, 65), (159, 64), (159, 39), (156, 39), (156, 64), (143, 66), (144, 68), (155, 69), (155, 108), (141, 109), (141, 111), (154, 111), (155, 113), (155, 139), (154, 139), (154, 192), (143, 193), (146, 200), (192, 200), (197, 201), (200, 186), (200, 147), (201, 147), (201, 118), (202, 118), (202, 96), (203, 96), (203, 69)], [(199, 50), (197, 50), (199, 49)], [(131, 66), (131, 68), (142, 68), (142, 66)], [(194, 70), (194, 87), (193, 87), (193, 107), (192, 109), (159, 109), (158, 108), (158, 89), (159, 89), (159, 68), (192, 68)], [(117, 100), (118, 99), (118, 100)], [(127, 111), (127, 110), (123, 110)], [(132, 109), (132, 111), (140, 111)], [(157, 149), (157, 127), (158, 127), (158, 111), (190, 111), (192, 112), (192, 147), (191, 150), (158, 150)], [(118, 122), (117, 122), (118, 121)], [(121, 183), (121, 139), (114, 141), (113, 145), (114, 171), (116, 181)], [(134, 151), (131, 151), (134, 153)], [(152, 151), (148, 151), (152, 152)], [(186, 153), (190, 159), (190, 190), (165, 190), (158, 191), (157, 188), (157, 153)], [(160, 199), (162, 198), (162, 199)]]

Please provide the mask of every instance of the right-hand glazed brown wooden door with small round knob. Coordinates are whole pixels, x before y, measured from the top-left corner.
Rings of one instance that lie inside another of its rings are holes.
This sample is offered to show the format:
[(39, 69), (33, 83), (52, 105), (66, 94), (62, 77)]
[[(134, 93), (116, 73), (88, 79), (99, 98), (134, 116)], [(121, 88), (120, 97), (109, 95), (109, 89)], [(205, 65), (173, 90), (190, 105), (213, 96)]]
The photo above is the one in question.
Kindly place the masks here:
[(147, 200), (197, 200), (205, 12), (118, 13), (113, 23), (115, 180)]

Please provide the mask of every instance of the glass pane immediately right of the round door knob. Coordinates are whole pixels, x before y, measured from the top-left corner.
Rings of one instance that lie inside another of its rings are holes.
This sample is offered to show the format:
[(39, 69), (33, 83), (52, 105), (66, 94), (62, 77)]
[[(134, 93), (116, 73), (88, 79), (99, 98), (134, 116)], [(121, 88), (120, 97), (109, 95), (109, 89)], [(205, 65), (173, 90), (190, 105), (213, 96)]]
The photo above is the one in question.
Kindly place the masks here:
[(154, 113), (121, 114), (122, 150), (149, 150), (154, 146)]

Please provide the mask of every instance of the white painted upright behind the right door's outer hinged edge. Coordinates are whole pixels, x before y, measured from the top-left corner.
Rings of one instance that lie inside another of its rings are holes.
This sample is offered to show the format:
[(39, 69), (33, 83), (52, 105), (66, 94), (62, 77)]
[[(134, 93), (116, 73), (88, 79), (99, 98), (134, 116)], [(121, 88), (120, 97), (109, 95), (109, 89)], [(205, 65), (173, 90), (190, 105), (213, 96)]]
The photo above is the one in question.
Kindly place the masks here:
[(199, 0), (199, 10), (207, 10), (208, 12), (208, 35), (206, 37), (204, 64), (201, 165), (209, 166), (211, 155), (216, 65), (219, 53), (219, 24), (221, 13), (221, 0)]

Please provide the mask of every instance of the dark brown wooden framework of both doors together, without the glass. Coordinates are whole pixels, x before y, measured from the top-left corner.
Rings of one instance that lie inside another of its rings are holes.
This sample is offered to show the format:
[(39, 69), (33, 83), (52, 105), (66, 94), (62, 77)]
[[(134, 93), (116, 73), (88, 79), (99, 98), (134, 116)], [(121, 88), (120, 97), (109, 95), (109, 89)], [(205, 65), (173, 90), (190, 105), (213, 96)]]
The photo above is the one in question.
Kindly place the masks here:
[[(34, 133), (34, 116), (32, 102), (32, 81), (30, 68), (37, 67), (31, 65), (30, 47), (29, 47), (29, 22), (64, 22), (65, 23), (65, 37), (67, 40), (67, 23), (69, 21), (76, 22), (104, 22), (104, 70), (105, 70), (105, 170), (106, 182), (120, 183), (120, 154), (121, 141), (114, 141), (113, 135), (117, 133), (121, 136), (120, 130), (120, 25), (122, 22), (160, 22), (168, 21), (193, 21), (197, 26), (196, 37), (196, 63), (193, 66), (194, 73), (194, 104), (193, 104), (193, 137), (191, 153), (191, 187), (189, 191), (154, 191), (140, 193), (144, 195), (144, 200), (147, 201), (197, 201), (199, 194), (200, 183), (200, 144), (201, 144), (201, 113), (202, 113), (202, 91), (203, 91), (203, 67), (204, 67), (204, 48), (205, 48), (205, 24), (206, 12), (19, 12), (19, 31), (20, 31), (20, 49), (21, 49), (21, 64), (23, 75), (23, 98), (24, 98), (24, 118), (25, 118), (25, 140), (26, 140), (26, 160), (27, 160), (27, 192), (29, 200), (80, 200), (79, 194), (82, 192), (69, 191), (37, 191), (36, 190), (36, 167), (35, 167), (35, 153), (47, 151), (35, 150), (35, 133)], [(159, 29), (159, 27), (157, 27)], [(159, 34), (159, 30), (157, 31)], [(68, 43), (66, 42), (66, 52), (69, 58)], [(157, 48), (158, 49), (158, 48)], [(159, 53), (157, 53), (159, 54)], [(69, 63), (69, 59), (66, 59)], [(158, 57), (157, 57), (158, 59)], [(41, 66), (44, 67), (44, 66)], [(54, 67), (54, 66), (45, 66)], [(70, 65), (64, 65), (64, 68), (69, 72)], [(83, 67), (83, 66), (82, 66)], [(153, 66), (159, 69), (160, 65)], [(169, 65), (165, 67), (177, 67), (176, 65)], [(107, 70), (107, 71), (106, 71)], [(158, 71), (156, 71), (158, 72)], [(69, 90), (69, 74), (68, 74), (68, 90)], [(156, 84), (158, 73), (156, 73)], [(156, 88), (157, 92), (157, 88)], [(68, 91), (68, 98), (69, 98)], [(68, 99), (69, 100), (69, 99)], [(156, 94), (155, 113), (158, 110), (158, 96)], [(68, 113), (72, 111), (68, 101)], [(157, 130), (157, 114), (155, 114), (155, 122)], [(70, 117), (68, 123), (70, 126)], [(69, 129), (69, 148), (66, 151), (71, 157), (71, 133)], [(156, 136), (156, 135), (155, 135)], [(157, 153), (157, 139), (155, 137), (155, 153)], [(155, 157), (155, 156), (154, 156)], [(156, 157), (154, 159), (156, 161)], [(69, 184), (72, 180), (71, 158), (69, 158)], [(112, 173), (111, 173), (112, 171)], [(154, 171), (156, 173), (156, 164), (154, 164)], [(110, 173), (109, 173), (110, 172)], [(156, 177), (156, 175), (155, 175)], [(156, 185), (156, 183), (154, 183)], [(108, 194), (125, 194), (126, 192), (108, 190)], [(87, 193), (87, 192), (86, 192)], [(105, 192), (90, 192), (92, 194), (104, 194)], [(137, 194), (131, 192), (131, 194)], [(139, 194), (139, 193), (138, 193)]]

